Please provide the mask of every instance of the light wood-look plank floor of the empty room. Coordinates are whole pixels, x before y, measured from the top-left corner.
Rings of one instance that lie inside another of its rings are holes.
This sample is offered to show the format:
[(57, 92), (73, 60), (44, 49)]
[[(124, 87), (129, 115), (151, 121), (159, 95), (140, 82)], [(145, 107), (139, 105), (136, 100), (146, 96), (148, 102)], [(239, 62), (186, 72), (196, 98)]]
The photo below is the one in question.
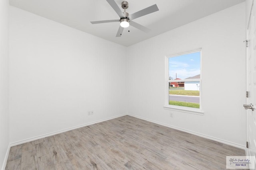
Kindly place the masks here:
[(216, 170), (242, 149), (131, 116), (11, 147), (6, 170)]

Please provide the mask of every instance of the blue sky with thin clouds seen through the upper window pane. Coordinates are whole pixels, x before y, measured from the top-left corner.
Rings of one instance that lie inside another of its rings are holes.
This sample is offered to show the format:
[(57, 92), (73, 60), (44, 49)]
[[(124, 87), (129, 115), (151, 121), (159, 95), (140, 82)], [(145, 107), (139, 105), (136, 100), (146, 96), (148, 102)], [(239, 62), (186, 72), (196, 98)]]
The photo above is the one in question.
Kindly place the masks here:
[(185, 79), (200, 74), (200, 52), (169, 58), (169, 76)]

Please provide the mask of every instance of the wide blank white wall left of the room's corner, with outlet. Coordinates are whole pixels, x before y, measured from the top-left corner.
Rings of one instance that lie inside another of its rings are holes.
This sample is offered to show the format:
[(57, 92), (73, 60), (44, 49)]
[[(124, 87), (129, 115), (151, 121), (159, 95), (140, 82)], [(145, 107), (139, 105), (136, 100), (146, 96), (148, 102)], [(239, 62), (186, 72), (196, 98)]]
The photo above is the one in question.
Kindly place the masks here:
[(125, 50), (10, 6), (10, 143), (125, 114)]

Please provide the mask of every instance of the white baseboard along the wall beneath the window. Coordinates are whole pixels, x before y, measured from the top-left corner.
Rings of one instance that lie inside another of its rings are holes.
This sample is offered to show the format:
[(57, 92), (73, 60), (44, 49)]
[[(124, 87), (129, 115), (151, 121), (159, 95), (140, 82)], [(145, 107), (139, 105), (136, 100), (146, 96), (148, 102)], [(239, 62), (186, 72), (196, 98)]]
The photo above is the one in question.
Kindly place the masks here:
[(239, 145), (239, 144), (237, 144), (237, 143), (232, 143), (232, 142), (230, 142), (230, 141), (225, 141), (225, 140), (222, 140), (222, 139), (218, 139), (218, 138), (216, 138), (216, 137), (211, 137), (211, 136), (208, 136), (208, 135), (204, 135), (204, 134), (202, 134), (202, 133), (197, 133), (197, 132), (190, 131), (190, 130), (187, 130), (187, 129), (182, 129), (182, 128), (180, 128), (180, 127), (176, 127), (176, 126), (172, 126), (172, 125), (167, 125), (167, 124), (165, 124), (165, 123), (160, 123), (160, 122), (158, 122), (158, 121), (153, 121), (153, 120), (146, 119), (146, 118), (144, 118), (144, 117), (139, 117), (139, 116), (136, 116), (136, 115), (132, 115), (132, 114), (129, 114), (129, 113), (128, 113), (127, 115), (132, 116), (132, 117), (136, 117), (136, 118), (138, 118), (138, 119), (146, 120), (146, 121), (149, 121), (149, 122), (152, 122), (152, 123), (156, 123), (156, 124), (158, 124), (158, 125), (162, 125), (162, 126), (165, 126), (165, 127), (170, 127), (170, 128), (172, 128), (172, 129), (176, 129), (176, 130), (179, 130), (179, 131), (183, 131), (183, 132), (186, 132), (186, 133), (190, 133), (190, 134), (192, 134), (192, 135), (196, 135), (196, 136), (203, 137), (203, 138), (206, 138), (206, 139), (211, 139), (211, 140), (213, 140), (213, 141), (217, 141), (217, 142), (220, 142), (220, 143), (224, 143), (224, 144), (226, 144), (226, 145), (230, 145), (230, 146), (237, 147), (237, 148), (244, 149), (244, 150), (246, 149), (245, 146)]

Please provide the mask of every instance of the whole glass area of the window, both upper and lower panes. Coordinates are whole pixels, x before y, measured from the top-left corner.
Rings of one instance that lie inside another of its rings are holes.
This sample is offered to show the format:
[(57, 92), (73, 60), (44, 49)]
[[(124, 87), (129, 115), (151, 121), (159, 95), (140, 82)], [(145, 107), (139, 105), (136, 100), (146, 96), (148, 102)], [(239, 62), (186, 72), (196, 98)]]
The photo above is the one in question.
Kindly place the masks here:
[(169, 57), (169, 105), (200, 108), (200, 56), (197, 51)]

